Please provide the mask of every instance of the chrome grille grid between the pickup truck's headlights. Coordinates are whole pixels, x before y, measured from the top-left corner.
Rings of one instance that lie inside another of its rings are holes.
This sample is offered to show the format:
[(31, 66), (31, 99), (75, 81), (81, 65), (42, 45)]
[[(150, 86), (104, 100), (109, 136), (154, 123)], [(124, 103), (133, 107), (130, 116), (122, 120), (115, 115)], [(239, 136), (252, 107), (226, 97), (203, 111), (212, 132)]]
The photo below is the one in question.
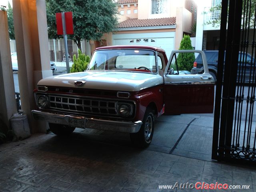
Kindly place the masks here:
[(117, 101), (50, 95), (50, 108), (82, 113), (118, 115)]

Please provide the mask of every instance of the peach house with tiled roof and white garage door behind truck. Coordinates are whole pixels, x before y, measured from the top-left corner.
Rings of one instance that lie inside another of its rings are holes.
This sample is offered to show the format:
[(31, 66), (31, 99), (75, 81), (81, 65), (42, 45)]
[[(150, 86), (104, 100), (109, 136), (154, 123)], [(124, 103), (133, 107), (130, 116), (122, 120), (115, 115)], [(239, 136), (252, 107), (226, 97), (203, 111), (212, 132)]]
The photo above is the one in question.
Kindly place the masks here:
[(150, 45), (163, 48), (170, 56), (179, 48), (183, 35), (190, 34), (196, 9), (193, 0), (119, 0), (118, 28), (104, 34), (99, 42), (90, 41), (91, 50), (110, 45)]

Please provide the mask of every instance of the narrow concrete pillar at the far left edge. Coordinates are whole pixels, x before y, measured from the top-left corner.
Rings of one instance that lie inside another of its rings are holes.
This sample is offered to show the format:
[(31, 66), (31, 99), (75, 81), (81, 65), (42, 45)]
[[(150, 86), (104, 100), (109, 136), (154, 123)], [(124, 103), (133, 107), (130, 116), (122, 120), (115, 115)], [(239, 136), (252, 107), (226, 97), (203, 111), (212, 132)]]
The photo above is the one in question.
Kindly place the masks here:
[(17, 112), (6, 11), (0, 11), (0, 118), (10, 129), (10, 117)]

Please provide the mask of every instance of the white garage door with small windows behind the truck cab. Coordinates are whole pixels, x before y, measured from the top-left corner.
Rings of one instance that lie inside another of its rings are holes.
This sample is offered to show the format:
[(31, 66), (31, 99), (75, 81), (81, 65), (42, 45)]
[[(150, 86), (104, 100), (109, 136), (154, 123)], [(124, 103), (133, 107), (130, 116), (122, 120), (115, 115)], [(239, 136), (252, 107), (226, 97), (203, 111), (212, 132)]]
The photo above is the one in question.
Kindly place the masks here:
[(113, 45), (148, 45), (165, 50), (167, 58), (174, 50), (174, 32), (114, 34)]

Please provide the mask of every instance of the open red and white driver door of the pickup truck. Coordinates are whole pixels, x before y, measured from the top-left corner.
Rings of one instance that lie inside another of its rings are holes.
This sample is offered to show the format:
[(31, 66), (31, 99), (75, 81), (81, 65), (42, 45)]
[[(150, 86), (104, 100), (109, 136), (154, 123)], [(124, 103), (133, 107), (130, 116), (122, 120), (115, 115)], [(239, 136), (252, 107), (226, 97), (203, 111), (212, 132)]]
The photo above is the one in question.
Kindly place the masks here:
[[(180, 57), (188, 58), (191, 53), (202, 55), (203, 74), (190, 74), (190, 72), (182, 69), (184, 64), (181, 64), (178, 54), (181, 54)], [(212, 113), (214, 108), (214, 84), (215, 81), (209, 74), (206, 56), (203, 51), (172, 51), (164, 71), (165, 114)]]

